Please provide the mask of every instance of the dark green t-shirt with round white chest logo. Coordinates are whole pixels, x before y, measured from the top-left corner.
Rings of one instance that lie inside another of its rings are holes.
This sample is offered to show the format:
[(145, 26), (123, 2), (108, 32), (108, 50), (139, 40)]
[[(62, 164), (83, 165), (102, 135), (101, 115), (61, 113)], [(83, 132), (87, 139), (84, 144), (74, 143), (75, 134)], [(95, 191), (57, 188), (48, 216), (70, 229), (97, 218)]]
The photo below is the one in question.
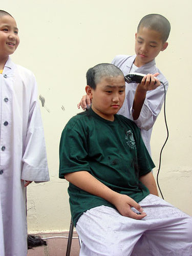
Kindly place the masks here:
[[(139, 177), (151, 172), (155, 165), (137, 125), (121, 115), (108, 121), (90, 109), (72, 117), (61, 135), (59, 159), (59, 178), (84, 170), (136, 202), (149, 194)], [(110, 202), (71, 183), (68, 193), (74, 225), (88, 209), (100, 205), (115, 208)]]

